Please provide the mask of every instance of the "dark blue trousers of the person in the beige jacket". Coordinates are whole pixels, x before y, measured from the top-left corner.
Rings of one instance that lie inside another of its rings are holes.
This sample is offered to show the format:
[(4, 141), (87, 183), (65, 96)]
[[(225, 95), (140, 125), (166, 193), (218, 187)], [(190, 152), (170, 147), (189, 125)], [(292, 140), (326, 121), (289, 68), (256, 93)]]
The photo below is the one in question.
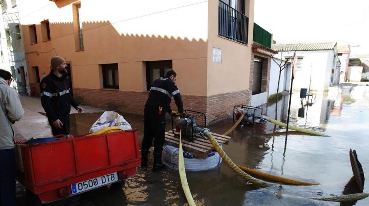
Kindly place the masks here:
[(0, 205), (16, 205), (14, 148), (0, 150)]

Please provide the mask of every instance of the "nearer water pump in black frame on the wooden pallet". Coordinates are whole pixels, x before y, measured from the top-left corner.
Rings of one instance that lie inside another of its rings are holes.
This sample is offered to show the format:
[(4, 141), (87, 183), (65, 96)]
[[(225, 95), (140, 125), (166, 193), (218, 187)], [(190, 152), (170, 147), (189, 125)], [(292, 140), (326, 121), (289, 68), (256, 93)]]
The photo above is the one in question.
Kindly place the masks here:
[[(196, 134), (203, 130), (196, 124), (196, 120), (203, 119), (204, 126), (206, 126), (206, 115), (202, 112), (185, 110), (185, 115), (172, 115), (172, 132), (180, 132), (182, 129), (182, 138), (193, 142), (196, 139)], [(175, 136), (179, 136), (176, 135)]]

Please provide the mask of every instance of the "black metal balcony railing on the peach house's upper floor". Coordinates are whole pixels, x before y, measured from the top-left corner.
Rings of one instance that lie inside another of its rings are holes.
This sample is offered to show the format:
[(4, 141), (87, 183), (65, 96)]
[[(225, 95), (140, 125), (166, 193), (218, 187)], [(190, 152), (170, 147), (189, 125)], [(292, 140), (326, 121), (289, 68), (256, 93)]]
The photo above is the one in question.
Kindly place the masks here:
[(247, 44), (249, 18), (219, 0), (218, 35)]

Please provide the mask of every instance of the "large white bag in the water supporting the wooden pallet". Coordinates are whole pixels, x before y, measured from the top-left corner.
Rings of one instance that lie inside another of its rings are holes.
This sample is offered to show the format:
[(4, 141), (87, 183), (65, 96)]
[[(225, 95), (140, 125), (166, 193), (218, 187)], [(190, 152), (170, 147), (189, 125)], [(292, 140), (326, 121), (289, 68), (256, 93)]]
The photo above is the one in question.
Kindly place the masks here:
[[(166, 166), (172, 170), (178, 170), (179, 149), (170, 145), (163, 146), (162, 158)], [(211, 170), (218, 167), (222, 162), (222, 158), (217, 152), (208, 154), (208, 158), (200, 159), (192, 156), (192, 154), (183, 151), (184, 168), (186, 171), (197, 172)]]

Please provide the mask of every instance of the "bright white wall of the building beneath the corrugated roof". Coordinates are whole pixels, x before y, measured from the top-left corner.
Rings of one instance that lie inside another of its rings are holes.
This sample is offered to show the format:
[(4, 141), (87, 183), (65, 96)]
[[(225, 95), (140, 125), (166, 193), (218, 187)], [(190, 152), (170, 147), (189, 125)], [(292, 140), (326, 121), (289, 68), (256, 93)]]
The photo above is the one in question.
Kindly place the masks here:
[[(321, 51), (297, 51), (297, 57), (303, 57), (301, 70), (296, 71), (293, 81), (293, 90), (300, 88), (309, 88), (310, 83), (310, 65), (311, 66), (311, 90), (327, 91), (330, 85), (331, 73), (334, 60), (334, 50)], [(283, 58), (293, 55), (293, 52), (283, 52)], [(280, 58), (280, 53), (274, 57)], [(336, 58), (337, 59), (337, 58)]]

